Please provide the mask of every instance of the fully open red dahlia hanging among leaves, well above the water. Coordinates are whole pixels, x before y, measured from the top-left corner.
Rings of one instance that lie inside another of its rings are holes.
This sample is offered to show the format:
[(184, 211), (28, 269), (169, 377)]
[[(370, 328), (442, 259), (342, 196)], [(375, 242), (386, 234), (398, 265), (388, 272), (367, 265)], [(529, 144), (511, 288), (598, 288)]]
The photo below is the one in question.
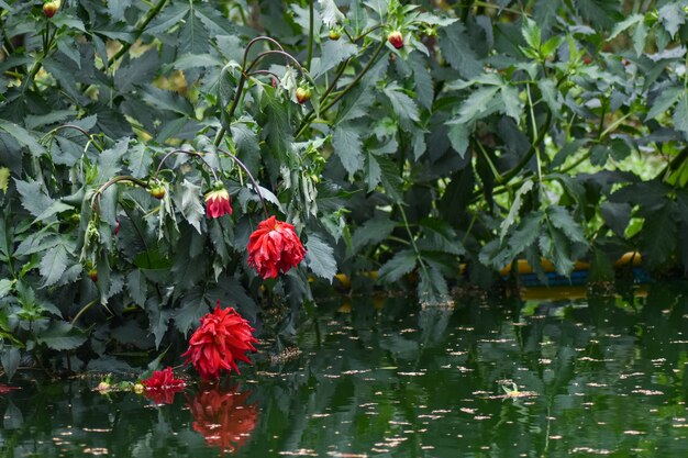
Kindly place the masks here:
[(258, 224), (248, 238), (248, 265), (263, 278), (276, 278), (301, 262), (306, 248), (289, 223), (275, 216)]

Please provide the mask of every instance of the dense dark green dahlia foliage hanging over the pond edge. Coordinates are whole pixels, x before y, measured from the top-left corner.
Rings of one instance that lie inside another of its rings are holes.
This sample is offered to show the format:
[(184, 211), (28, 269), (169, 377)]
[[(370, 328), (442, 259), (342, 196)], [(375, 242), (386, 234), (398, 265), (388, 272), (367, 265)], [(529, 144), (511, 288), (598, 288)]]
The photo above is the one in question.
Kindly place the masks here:
[[(178, 344), (218, 299), (297, 312), (309, 276), (378, 270), (436, 303), (518, 258), (688, 269), (685, 1), (325, 1), (312, 34), (307, 0), (63, 3), (0, 13), (8, 376), (22, 353)], [(204, 214), (215, 180), (231, 216)], [(308, 249), (267, 281), (246, 262), (264, 210)]]

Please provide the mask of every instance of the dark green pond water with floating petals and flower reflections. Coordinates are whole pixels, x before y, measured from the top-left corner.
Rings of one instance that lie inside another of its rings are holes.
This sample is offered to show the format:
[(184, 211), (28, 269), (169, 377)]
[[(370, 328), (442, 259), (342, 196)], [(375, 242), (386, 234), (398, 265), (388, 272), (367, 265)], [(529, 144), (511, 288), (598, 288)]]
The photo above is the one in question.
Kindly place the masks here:
[(687, 293), (325, 303), (300, 355), (258, 355), (225, 387), (19, 380), (0, 456), (685, 457)]

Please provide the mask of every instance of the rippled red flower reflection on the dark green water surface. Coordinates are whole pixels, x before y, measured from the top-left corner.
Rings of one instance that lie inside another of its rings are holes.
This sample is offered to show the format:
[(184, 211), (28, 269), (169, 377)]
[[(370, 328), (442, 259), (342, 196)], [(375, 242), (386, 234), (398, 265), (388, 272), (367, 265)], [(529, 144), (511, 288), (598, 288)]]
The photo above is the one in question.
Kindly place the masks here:
[(197, 393), (189, 401), (193, 415), (193, 431), (206, 438), (210, 446), (233, 454), (245, 445), (258, 423), (257, 403), (247, 405), (251, 391), (244, 393), (232, 389), (222, 392), (219, 387)]

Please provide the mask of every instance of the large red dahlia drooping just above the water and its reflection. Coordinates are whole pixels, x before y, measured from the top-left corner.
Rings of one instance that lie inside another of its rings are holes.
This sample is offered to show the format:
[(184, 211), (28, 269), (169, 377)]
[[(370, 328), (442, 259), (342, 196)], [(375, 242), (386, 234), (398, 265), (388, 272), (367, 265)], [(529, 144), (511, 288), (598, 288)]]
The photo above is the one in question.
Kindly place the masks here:
[(189, 349), (181, 356), (188, 357), (202, 379), (220, 378), (223, 370), (238, 372), (236, 361), (251, 364), (246, 351), (255, 351), (258, 342), (248, 321), (233, 308), (220, 309), (220, 301), (212, 313), (201, 317), (201, 325), (191, 335)]

